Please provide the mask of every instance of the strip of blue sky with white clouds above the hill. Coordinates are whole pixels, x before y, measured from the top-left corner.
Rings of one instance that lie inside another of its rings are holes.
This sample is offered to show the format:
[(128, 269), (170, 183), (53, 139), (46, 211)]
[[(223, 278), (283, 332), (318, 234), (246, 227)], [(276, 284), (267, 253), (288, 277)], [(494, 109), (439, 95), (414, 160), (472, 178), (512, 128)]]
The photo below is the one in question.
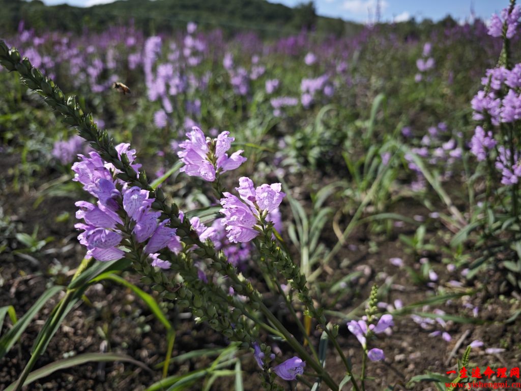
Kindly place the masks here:
[[(68, 3), (80, 7), (112, 1), (114, 0), (43, 0), (49, 5)], [(508, 5), (506, 0), (315, 0), (315, 6), (319, 15), (367, 22), (369, 15), (372, 15), (371, 20), (374, 20), (378, 1), (381, 20), (396, 22), (413, 17), (417, 20), (429, 18), (437, 21), (448, 14), (456, 20), (464, 21), (470, 17), (471, 7), (474, 8), (476, 17), (488, 19), (492, 13)], [(271, 3), (282, 3), (293, 7), (302, 3), (302, 0), (271, 0)]]

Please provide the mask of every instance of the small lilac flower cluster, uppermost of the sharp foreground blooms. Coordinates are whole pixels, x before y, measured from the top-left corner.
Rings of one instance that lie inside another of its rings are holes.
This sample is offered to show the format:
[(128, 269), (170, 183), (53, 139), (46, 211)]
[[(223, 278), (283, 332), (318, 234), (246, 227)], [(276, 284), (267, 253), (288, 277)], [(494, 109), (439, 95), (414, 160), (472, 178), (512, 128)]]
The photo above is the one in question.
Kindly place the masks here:
[(200, 128), (194, 126), (192, 131), (187, 133), (188, 140), (179, 144), (182, 151), (177, 155), (185, 164), (180, 171), (213, 182), (216, 174), (239, 167), (246, 158), (241, 156), (242, 150), (228, 157), (226, 151), (235, 140), (228, 137), (229, 134), (230, 132), (222, 132), (216, 139), (211, 140), (204, 136)]

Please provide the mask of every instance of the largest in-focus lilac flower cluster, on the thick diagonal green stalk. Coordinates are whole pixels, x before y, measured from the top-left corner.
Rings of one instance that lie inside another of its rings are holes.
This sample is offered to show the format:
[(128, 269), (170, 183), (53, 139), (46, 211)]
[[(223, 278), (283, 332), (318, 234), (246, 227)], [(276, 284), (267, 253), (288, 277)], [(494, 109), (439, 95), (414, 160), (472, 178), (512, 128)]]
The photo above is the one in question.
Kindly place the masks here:
[[(130, 164), (137, 171), (135, 150), (130, 144), (116, 146), (119, 158), (126, 154)], [(98, 261), (113, 261), (123, 258), (125, 252), (119, 248), (124, 238), (132, 236), (137, 243), (143, 243), (144, 252), (149, 254), (154, 266), (168, 268), (169, 262), (158, 258), (158, 251), (168, 247), (179, 247), (176, 229), (168, 227), (169, 220), (158, 221), (160, 212), (152, 210), (154, 199), (147, 190), (128, 187), (125, 182), (114, 179), (115, 167), (103, 161), (97, 152), (88, 156), (78, 155), (80, 162), (72, 165), (73, 180), (80, 182), (83, 189), (97, 198), (96, 204), (78, 201), (80, 209), (76, 213), (77, 229), (82, 230), (78, 239), (88, 249), (88, 256)]]

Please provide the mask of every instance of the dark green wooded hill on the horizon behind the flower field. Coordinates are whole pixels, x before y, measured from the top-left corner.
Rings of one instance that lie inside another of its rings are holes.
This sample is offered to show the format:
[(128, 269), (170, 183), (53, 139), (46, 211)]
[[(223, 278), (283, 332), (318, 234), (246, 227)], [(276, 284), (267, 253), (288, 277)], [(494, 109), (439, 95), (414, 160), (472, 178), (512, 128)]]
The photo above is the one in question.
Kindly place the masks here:
[(295, 8), (266, 0), (119, 0), (89, 8), (46, 6), (39, 0), (0, 0), (0, 34), (16, 31), (23, 20), (37, 31), (82, 32), (126, 24), (147, 34), (184, 28), (189, 21), (201, 29), (221, 28), (226, 33), (254, 30), (263, 36), (280, 36), (302, 29), (318, 34), (353, 34), (362, 28), (342, 19), (317, 16), (313, 2)]

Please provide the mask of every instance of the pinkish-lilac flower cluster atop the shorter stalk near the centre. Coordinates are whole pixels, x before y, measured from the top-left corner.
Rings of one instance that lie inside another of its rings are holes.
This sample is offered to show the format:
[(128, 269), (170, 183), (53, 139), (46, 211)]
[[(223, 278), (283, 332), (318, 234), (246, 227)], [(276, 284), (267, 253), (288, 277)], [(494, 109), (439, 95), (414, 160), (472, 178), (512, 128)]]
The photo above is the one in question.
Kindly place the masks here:
[(242, 201), (229, 192), (223, 193), (225, 198), (220, 200), (220, 212), (225, 215), (221, 224), (226, 227), (228, 240), (234, 243), (254, 239), (260, 233), (257, 225), (262, 224), (263, 219), (274, 222), (275, 218), (270, 213), (278, 213), (278, 207), (286, 196), (280, 184), (264, 184), (254, 188), (250, 178), (241, 177), (239, 185), (235, 190)]

